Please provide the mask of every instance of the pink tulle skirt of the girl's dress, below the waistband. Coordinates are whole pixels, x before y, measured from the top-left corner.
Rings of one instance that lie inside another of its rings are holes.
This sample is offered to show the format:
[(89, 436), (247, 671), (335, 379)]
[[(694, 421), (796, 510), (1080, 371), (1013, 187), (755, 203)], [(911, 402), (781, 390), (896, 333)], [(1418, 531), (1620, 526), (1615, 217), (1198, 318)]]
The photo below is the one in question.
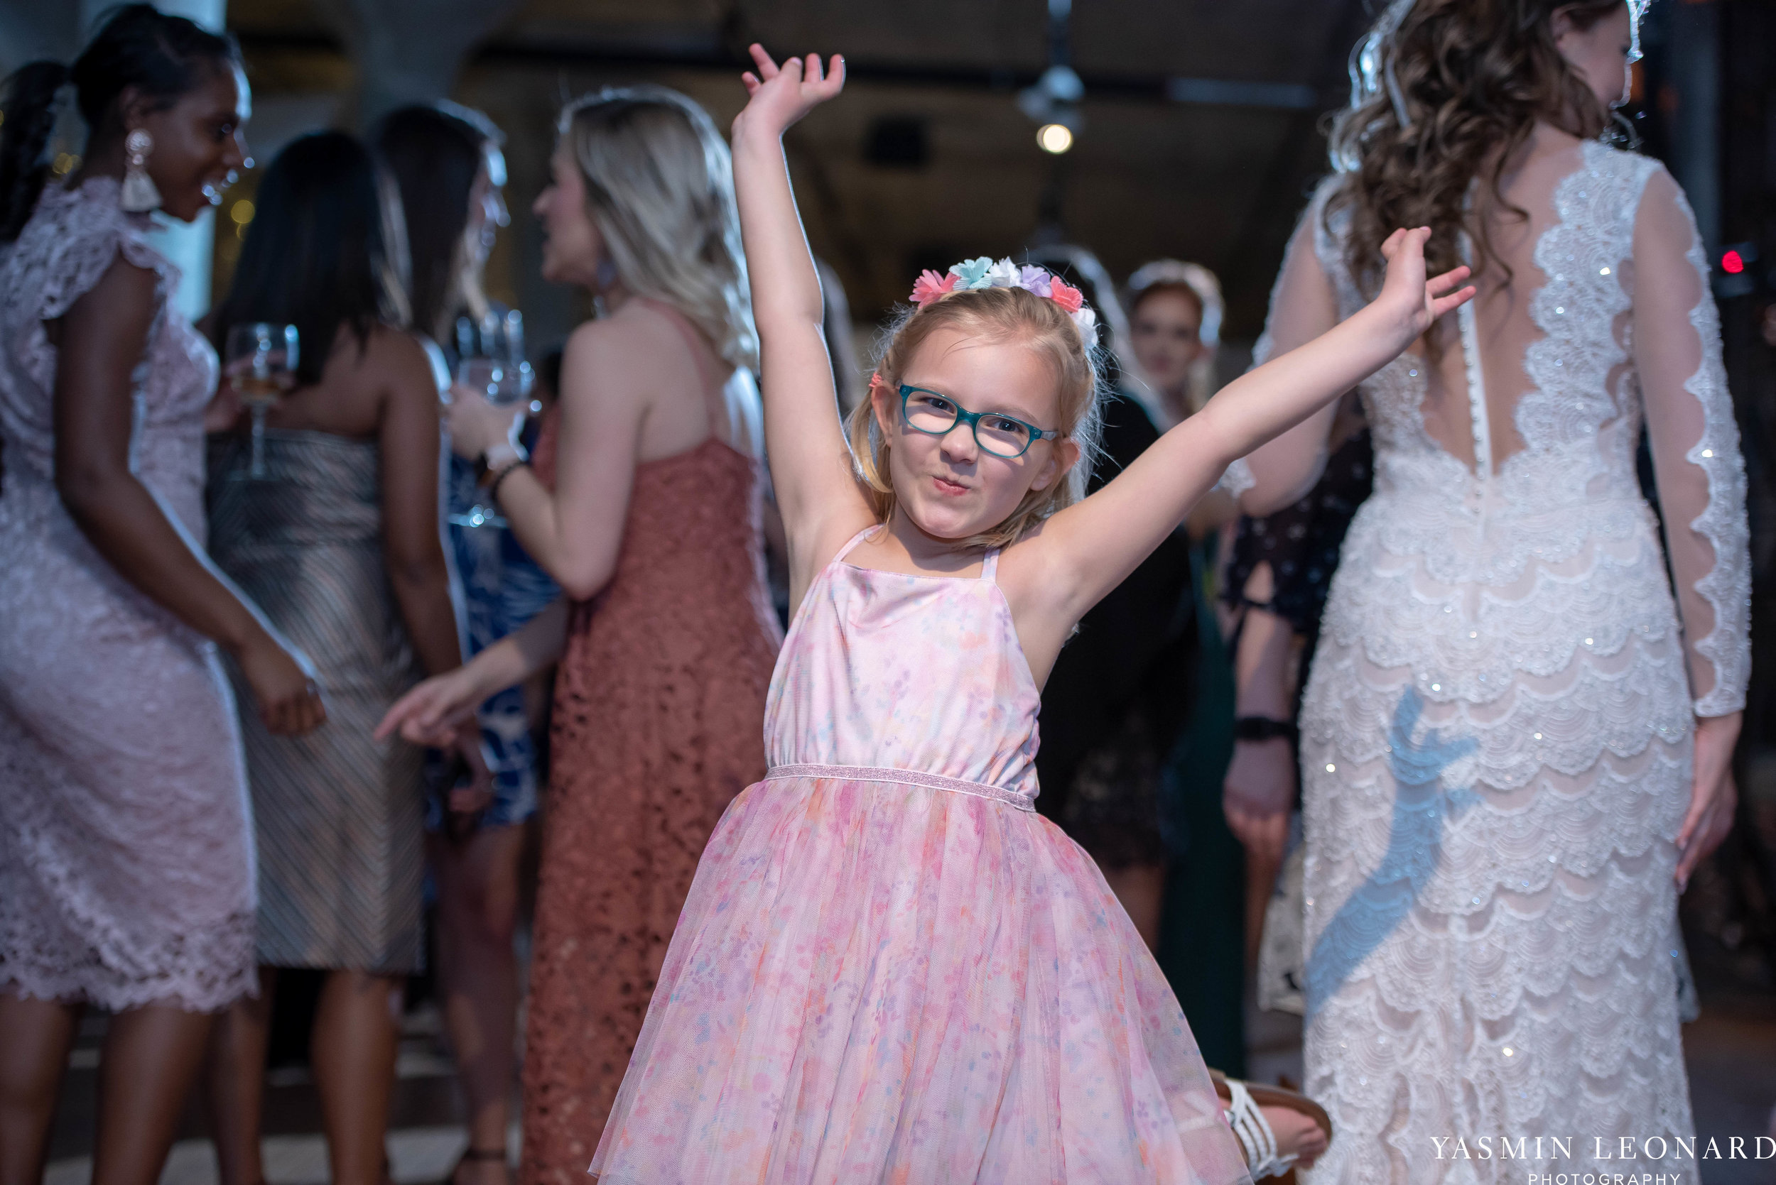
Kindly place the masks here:
[(1053, 823), (751, 786), (703, 851), (604, 1185), (1247, 1181), (1190, 1025)]

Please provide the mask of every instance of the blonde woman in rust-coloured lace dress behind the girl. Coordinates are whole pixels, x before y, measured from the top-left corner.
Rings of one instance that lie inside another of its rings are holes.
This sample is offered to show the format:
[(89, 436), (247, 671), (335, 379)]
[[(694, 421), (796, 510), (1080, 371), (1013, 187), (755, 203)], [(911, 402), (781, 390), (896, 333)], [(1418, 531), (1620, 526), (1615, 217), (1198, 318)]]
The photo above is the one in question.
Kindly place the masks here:
[(757, 335), (728, 147), (661, 87), (567, 108), (543, 275), (602, 316), (567, 344), (533, 470), (458, 388), (453, 447), (567, 600), (396, 704), (439, 743), (559, 658), (524, 1063), (524, 1181), (583, 1181), (696, 860), (765, 773), (780, 633), (760, 543)]

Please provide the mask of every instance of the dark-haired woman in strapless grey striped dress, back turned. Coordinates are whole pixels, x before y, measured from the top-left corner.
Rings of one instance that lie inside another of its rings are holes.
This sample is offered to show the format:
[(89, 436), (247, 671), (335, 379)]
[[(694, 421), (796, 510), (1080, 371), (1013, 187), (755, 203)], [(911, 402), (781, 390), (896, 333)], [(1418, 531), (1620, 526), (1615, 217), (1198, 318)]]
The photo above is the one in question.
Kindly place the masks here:
[[(243, 720), (259, 836), (263, 992), (218, 1032), (224, 1180), (254, 1185), (275, 969), (327, 972), (311, 1043), (332, 1180), (384, 1180), (405, 977), (423, 965), (421, 754), (371, 738), (424, 672), (462, 662), (444, 559), (439, 376), (405, 330), (401, 215), (369, 149), (289, 144), (259, 183), (234, 282), (210, 314), (295, 325), (307, 349), (266, 415), (210, 447), (210, 550), (313, 656), (330, 718), (293, 742)], [(474, 752), (474, 745), (467, 747)]]

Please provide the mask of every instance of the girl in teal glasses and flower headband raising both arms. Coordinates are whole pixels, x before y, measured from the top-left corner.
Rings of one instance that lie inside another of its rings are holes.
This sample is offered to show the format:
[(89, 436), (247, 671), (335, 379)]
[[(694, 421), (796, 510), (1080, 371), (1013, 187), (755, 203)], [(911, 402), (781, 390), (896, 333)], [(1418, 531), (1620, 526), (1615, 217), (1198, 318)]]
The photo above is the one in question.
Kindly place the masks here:
[(1428, 231), (1396, 232), (1368, 309), (1080, 500), (1090, 310), (970, 261), (920, 279), (847, 442), (781, 149), (844, 64), (753, 60), (733, 176), (794, 619), (771, 773), (703, 851), (593, 1174), (1225, 1185), (1311, 1158), (1323, 1134), (1289, 1112), (1234, 1137), (1146, 944), (1034, 812), (1041, 687), (1234, 458), (1467, 300), (1465, 270), (1426, 280)]

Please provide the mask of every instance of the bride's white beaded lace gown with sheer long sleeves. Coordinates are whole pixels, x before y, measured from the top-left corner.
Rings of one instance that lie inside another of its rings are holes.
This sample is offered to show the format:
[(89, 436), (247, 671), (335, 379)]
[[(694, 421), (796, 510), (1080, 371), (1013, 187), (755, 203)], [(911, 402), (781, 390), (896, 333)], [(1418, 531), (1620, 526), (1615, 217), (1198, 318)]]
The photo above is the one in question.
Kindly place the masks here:
[[(1682, 193), (1600, 144), (1561, 160), (1508, 193), (1520, 282), (1483, 289), (1453, 357), (1362, 387), (1375, 495), (1302, 710), (1305, 1086), (1339, 1130), (1316, 1183), (1533, 1167), (1458, 1171), (1451, 1134), (1693, 1132), (1671, 839), (1693, 715), (1744, 699), (1744, 479)], [(1350, 316), (1337, 183), (1300, 236)]]

